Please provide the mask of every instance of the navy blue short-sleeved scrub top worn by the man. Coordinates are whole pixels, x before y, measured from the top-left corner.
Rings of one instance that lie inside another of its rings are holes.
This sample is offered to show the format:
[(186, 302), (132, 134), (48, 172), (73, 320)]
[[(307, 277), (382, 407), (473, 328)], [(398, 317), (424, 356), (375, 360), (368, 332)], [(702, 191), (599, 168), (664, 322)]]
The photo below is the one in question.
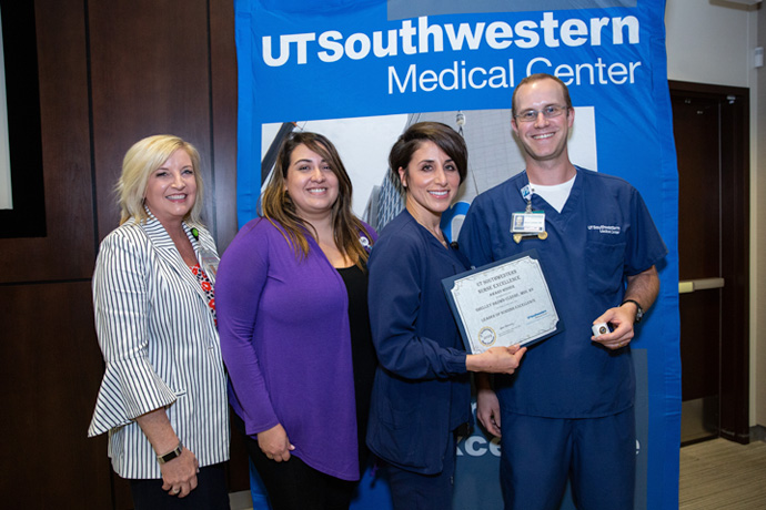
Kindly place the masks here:
[(593, 320), (622, 303), (626, 276), (659, 262), (667, 247), (638, 192), (612, 175), (577, 167), (561, 213), (538, 195), (546, 239), (511, 234), (523, 212), (523, 172), (478, 195), (460, 233), (460, 248), (476, 267), (535, 248), (564, 330), (534, 345), (513, 376), (497, 376), (504, 409), (548, 418), (596, 418), (633, 405), (635, 375), (629, 348), (608, 350), (591, 341)]

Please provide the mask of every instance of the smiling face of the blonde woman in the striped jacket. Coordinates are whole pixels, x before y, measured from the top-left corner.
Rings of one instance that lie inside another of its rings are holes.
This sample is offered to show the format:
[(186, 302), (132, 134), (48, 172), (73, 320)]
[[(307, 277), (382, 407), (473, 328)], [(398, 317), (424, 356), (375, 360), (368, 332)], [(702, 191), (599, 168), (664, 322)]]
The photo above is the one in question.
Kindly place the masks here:
[(189, 153), (177, 149), (168, 160), (149, 175), (144, 203), (162, 223), (180, 224), (196, 201), (196, 181)]

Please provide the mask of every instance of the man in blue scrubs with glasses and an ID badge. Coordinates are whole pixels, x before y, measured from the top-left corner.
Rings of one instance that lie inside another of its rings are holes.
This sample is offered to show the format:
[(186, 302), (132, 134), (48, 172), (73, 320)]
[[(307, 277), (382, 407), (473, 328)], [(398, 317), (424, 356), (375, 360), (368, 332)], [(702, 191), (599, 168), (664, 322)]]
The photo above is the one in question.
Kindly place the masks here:
[[(572, 164), (574, 114), (557, 78), (533, 74), (516, 86), (511, 124), (526, 170), (477, 196), (460, 233), (476, 267), (535, 248), (564, 325), (530, 348), (515, 375), (495, 376), (494, 388), (476, 379), (477, 417), (502, 430), (506, 509), (557, 509), (567, 479), (578, 508), (633, 508), (631, 341), (657, 297), (655, 264), (667, 248), (633, 186)], [(514, 238), (543, 217), (543, 235)], [(613, 332), (594, 336), (599, 323)]]

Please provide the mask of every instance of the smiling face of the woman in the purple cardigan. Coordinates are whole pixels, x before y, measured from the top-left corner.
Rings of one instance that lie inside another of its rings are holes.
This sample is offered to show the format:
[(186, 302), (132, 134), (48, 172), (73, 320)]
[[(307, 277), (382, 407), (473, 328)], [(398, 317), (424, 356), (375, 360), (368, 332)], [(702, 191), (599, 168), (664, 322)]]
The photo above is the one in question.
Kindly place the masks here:
[(284, 188), (301, 218), (311, 222), (332, 214), (337, 187), (337, 176), (320, 154), (304, 144), (293, 150)]

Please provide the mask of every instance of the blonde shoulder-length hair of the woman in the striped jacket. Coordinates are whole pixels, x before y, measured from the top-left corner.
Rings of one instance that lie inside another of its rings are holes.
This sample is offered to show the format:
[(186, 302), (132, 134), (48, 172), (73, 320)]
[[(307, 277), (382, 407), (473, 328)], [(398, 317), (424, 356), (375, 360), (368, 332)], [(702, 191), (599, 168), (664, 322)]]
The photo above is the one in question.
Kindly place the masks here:
[(196, 182), (196, 197), (184, 221), (201, 223), (202, 211), (202, 172), (200, 169), (200, 153), (194, 145), (172, 134), (157, 134), (139, 140), (125, 153), (122, 160), (122, 174), (114, 186), (120, 205), (120, 225), (131, 217), (138, 223), (149, 218), (143, 202), (147, 194), (147, 182), (157, 169), (162, 166), (168, 157), (179, 149), (189, 154)]

